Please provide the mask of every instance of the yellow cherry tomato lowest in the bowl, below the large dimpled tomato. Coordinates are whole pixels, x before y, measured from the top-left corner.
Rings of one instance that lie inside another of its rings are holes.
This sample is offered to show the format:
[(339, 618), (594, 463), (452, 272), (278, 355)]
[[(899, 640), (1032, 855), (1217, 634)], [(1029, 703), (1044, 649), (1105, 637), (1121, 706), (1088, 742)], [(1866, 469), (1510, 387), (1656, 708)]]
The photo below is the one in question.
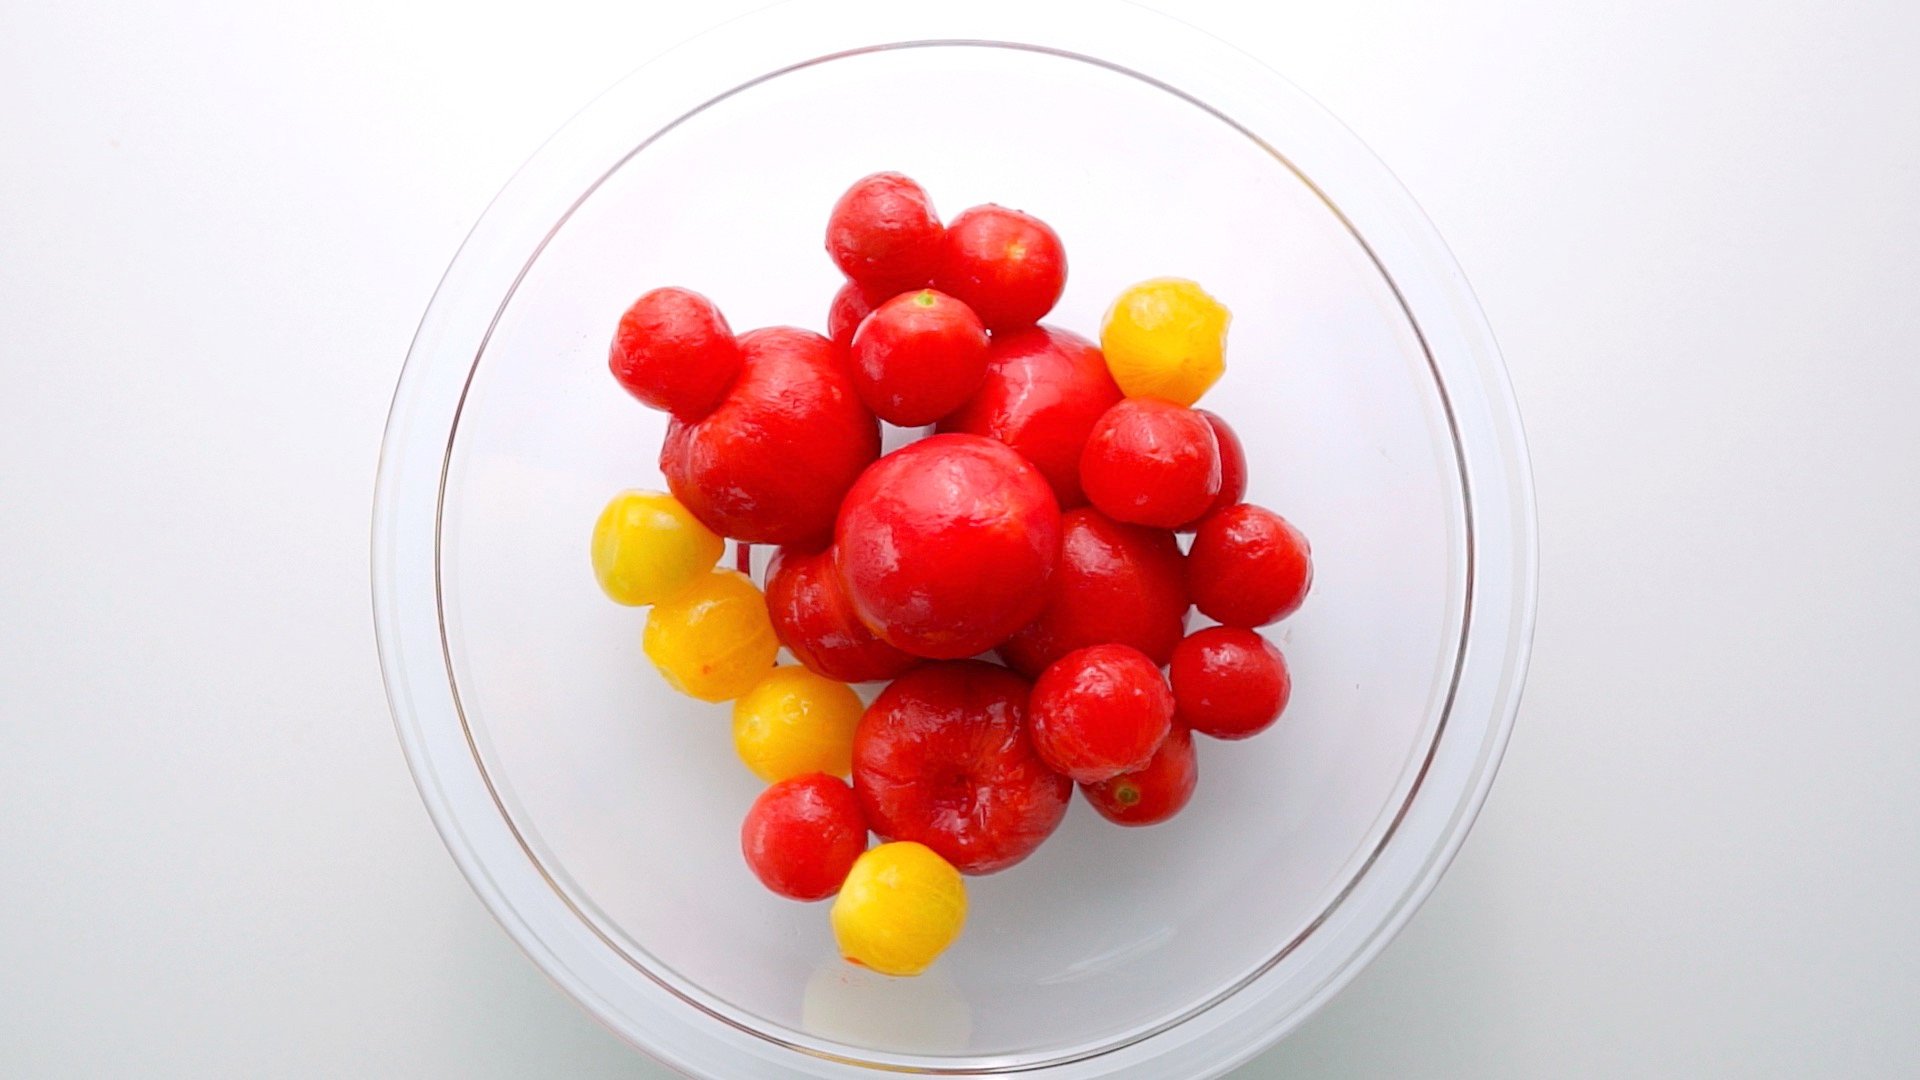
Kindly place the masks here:
[(881, 844), (854, 861), (831, 919), (849, 961), (881, 974), (920, 974), (960, 936), (966, 884), (922, 844)]

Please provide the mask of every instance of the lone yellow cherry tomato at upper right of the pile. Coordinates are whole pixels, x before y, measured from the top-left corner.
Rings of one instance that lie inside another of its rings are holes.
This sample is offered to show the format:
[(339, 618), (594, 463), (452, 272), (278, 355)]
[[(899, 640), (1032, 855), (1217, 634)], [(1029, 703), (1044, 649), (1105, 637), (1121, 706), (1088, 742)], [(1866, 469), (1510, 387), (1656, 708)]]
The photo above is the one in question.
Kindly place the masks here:
[(1119, 392), (1192, 405), (1227, 371), (1233, 313), (1198, 284), (1156, 277), (1119, 294), (1100, 323), (1100, 352)]

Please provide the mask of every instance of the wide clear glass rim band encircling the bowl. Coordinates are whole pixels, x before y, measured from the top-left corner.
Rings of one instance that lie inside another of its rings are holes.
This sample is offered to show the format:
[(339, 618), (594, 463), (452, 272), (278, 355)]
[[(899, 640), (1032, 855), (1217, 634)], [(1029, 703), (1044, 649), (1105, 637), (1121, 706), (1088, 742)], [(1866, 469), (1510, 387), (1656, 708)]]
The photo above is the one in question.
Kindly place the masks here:
[[(509, 181), (430, 302), (380, 452), (372, 600), (399, 742), (436, 828), (513, 940), (611, 1030), (691, 1074), (1217, 1076), (1283, 1038), (1405, 924), (1465, 840), (1519, 707), (1536, 603), (1532, 479), (1505, 369), (1465, 277), (1392, 173), (1258, 60), (1125, 0), (968, 6), (789, 0), (634, 71)], [(524, 269), (591, 188), (707, 104), (783, 71), (876, 48), (1002, 46), (1056, 54), (1179, 94), (1261, 142), (1336, 213), (1392, 284), (1427, 348), (1463, 484), (1467, 613), (1446, 721), (1421, 780), (1344, 894), (1248, 980), (1108, 1045), (1029, 1059), (862, 1053), (758, 1030), (672, 986), (591, 926), (499, 809), (459, 715), (440, 615), (440, 505), (451, 430), (488, 332)], [(645, 119), (641, 119), (645, 117)], [(1284, 133), (1284, 138), (1273, 136)], [(1284, 152), (1277, 148), (1284, 142)], [(1286, 970), (1281, 970), (1286, 965)], [(641, 978), (636, 978), (639, 974)]]

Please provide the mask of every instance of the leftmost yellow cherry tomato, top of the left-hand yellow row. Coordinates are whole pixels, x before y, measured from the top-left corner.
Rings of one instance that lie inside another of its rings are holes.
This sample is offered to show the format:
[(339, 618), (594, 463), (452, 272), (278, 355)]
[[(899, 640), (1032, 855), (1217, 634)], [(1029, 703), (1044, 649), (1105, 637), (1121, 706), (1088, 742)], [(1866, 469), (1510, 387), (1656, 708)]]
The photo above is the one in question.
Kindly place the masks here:
[(674, 496), (620, 492), (593, 523), (593, 577), (614, 603), (659, 603), (712, 569), (724, 548)]

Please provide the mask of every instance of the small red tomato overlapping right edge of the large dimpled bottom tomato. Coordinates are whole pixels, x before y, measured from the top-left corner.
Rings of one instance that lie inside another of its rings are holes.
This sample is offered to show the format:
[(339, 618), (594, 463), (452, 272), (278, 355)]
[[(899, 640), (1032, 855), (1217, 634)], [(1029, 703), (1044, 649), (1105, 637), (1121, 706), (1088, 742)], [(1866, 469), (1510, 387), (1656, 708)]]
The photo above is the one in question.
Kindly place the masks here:
[(1033, 682), (1027, 711), (1041, 761), (1098, 784), (1146, 769), (1173, 726), (1173, 692), (1140, 650), (1092, 646), (1054, 661)]

